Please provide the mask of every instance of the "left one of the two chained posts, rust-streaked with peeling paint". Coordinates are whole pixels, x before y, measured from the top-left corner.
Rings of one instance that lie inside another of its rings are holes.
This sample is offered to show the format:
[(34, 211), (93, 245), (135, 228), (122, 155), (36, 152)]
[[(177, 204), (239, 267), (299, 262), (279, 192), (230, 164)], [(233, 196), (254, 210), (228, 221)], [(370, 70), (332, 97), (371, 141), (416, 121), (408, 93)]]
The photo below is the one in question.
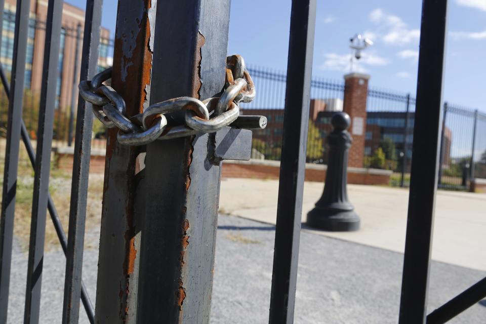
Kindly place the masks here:
[[(143, 112), (149, 100), (155, 7), (156, 0), (118, 2), (111, 84), (125, 99), (127, 115)], [(117, 129), (108, 131), (106, 147), (95, 311), (99, 323), (133, 323), (136, 318), (143, 148), (119, 145), (116, 134)]]

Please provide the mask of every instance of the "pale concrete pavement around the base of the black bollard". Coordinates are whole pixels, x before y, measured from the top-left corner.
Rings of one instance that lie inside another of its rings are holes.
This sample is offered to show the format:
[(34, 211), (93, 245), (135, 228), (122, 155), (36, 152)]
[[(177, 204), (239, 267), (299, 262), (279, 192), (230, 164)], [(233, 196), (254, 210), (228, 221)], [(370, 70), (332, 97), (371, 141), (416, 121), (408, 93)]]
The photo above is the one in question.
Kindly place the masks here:
[[(314, 207), (323, 184), (306, 182), (303, 215)], [(223, 179), (220, 212), (275, 224), (278, 181)], [(357, 232), (321, 235), (403, 253), (408, 189), (349, 185), (348, 194), (361, 217)], [(432, 259), (486, 270), (486, 194), (439, 190), (436, 199)]]

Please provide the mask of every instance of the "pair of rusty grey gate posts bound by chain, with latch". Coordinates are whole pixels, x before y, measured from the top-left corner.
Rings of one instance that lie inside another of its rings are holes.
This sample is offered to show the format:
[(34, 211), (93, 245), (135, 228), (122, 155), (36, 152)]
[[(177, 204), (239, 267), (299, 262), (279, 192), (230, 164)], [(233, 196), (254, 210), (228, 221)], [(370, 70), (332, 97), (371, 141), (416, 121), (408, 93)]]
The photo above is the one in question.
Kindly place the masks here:
[[(238, 127), (266, 125), (263, 116), (238, 118), (236, 102), (253, 100), (255, 92), (242, 58), (226, 59), (229, 4), (164, 2), (155, 9), (155, 0), (120, 1), (113, 68), (80, 84), (85, 99), (94, 100), (92, 95), (101, 91), (106, 99), (92, 102), (116, 106), (104, 105), (104, 115), (94, 110), (112, 129), (97, 322), (209, 322), (222, 160), (250, 159), (252, 132)], [(110, 77), (113, 88), (100, 87)], [(191, 98), (177, 98), (183, 96)], [(184, 109), (175, 109), (182, 102)], [(193, 105), (202, 107), (204, 119), (188, 117)], [(157, 110), (161, 107), (166, 110)], [(166, 115), (156, 118), (161, 129), (150, 140), (127, 119), (143, 112), (147, 129), (146, 117), (162, 111)], [(167, 121), (167, 132), (177, 136), (165, 136)]]

